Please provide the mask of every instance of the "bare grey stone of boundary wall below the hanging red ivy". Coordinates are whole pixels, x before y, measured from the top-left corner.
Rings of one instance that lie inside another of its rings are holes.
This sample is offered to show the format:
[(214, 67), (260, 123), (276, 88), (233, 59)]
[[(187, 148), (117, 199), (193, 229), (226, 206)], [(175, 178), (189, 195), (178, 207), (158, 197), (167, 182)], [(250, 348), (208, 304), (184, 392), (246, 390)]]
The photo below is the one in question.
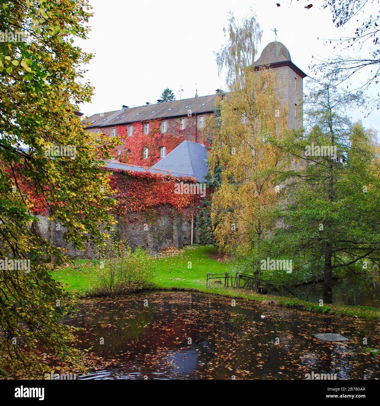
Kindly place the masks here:
[[(142, 246), (154, 255), (163, 248), (174, 246), (179, 248), (191, 243), (191, 218), (178, 213), (171, 205), (161, 205), (149, 212), (133, 212), (127, 216), (114, 214), (118, 223), (114, 226), (113, 240), (126, 241), (132, 249)], [(96, 247), (86, 245), (85, 251), (76, 250), (72, 244), (67, 245), (62, 238), (63, 227), (57, 227), (47, 216), (35, 215), (39, 221), (34, 225), (40, 235), (52, 245), (67, 248), (70, 258), (93, 259), (98, 257)], [(59, 230), (60, 228), (60, 230)], [(198, 244), (198, 233), (195, 232), (195, 216), (193, 226), (193, 243)]]

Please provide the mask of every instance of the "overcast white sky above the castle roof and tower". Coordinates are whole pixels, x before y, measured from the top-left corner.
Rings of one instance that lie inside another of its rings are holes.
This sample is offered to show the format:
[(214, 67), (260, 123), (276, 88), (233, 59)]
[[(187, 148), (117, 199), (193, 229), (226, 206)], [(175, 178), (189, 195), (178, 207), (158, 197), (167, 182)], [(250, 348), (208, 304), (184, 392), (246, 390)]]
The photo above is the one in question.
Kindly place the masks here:
[[(304, 6), (309, 3), (313, 7), (306, 10)], [(335, 28), (330, 10), (321, 9), (321, 1), (92, 0), (91, 4), (94, 16), (89, 39), (76, 41), (84, 51), (95, 54), (86, 75), (95, 94), (91, 104), (80, 106), (88, 116), (120, 109), (123, 104), (155, 103), (166, 87), (177, 99), (180, 89), (184, 90), (182, 99), (194, 97), (196, 88), (200, 96), (224, 89), (213, 52), (225, 41), (223, 26), (229, 10), (240, 21), (252, 6), (263, 30), (258, 54), (274, 40), (272, 30), (277, 28), (278, 41), (308, 75), (313, 75), (308, 69), (313, 55), (332, 55), (332, 45), (325, 45), (324, 39), (344, 35)], [(373, 93), (377, 91), (372, 88)], [(378, 111), (368, 118), (360, 111), (352, 116), (380, 130)]]

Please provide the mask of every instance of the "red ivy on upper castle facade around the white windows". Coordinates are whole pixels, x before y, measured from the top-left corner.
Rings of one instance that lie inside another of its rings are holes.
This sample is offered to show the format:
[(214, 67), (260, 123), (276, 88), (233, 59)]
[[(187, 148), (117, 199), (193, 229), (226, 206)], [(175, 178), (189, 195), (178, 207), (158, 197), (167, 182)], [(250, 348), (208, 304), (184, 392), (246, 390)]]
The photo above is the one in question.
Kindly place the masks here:
[[(161, 132), (161, 120), (149, 121), (149, 133), (144, 134), (144, 124), (133, 124), (133, 135), (128, 137), (128, 125), (118, 127), (118, 136), (125, 137), (120, 162), (150, 167), (161, 159), (161, 147), (166, 148), (166, 154), (180, 145), (182, 136), (174, 136)], [(143, 149), (148, 148), (148, 158), (143, 157)]]

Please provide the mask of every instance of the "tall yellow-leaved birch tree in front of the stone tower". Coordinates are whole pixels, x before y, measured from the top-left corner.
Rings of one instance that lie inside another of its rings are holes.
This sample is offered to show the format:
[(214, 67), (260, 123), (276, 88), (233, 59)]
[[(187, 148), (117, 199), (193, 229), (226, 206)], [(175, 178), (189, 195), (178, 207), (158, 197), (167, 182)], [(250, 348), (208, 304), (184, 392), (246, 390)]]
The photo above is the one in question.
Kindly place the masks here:
[(275, 227), (272, 210), (280, 201), (282, 168), (289, 165), (276, 140), (287, 134), (287, 106), (276, 97), (276, 74), (254, 69), (261, 30), (252, 13), (241, 26), (230, 16), (228, 41), (217, 54), (219, 74), (226, 69), (227, 92), (219, 91), (215, 117), (205, 128), (212, 146), (211, 176), (221, 168), (211, 219), (224, 252), (249, 255), (258, 274), (260, 244)]

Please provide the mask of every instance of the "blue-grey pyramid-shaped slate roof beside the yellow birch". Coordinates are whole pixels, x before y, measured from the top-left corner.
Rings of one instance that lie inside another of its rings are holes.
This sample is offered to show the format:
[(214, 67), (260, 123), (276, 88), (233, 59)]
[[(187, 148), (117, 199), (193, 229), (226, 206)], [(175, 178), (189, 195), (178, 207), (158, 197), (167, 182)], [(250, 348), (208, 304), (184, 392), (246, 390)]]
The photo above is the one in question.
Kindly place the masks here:
[(175, 177), (194, 177), (204, 182), (208, 173), (207, 149), (193, 141), (183, 141), (164, 158), (152, 166), (149, 172), (164, 173)]

